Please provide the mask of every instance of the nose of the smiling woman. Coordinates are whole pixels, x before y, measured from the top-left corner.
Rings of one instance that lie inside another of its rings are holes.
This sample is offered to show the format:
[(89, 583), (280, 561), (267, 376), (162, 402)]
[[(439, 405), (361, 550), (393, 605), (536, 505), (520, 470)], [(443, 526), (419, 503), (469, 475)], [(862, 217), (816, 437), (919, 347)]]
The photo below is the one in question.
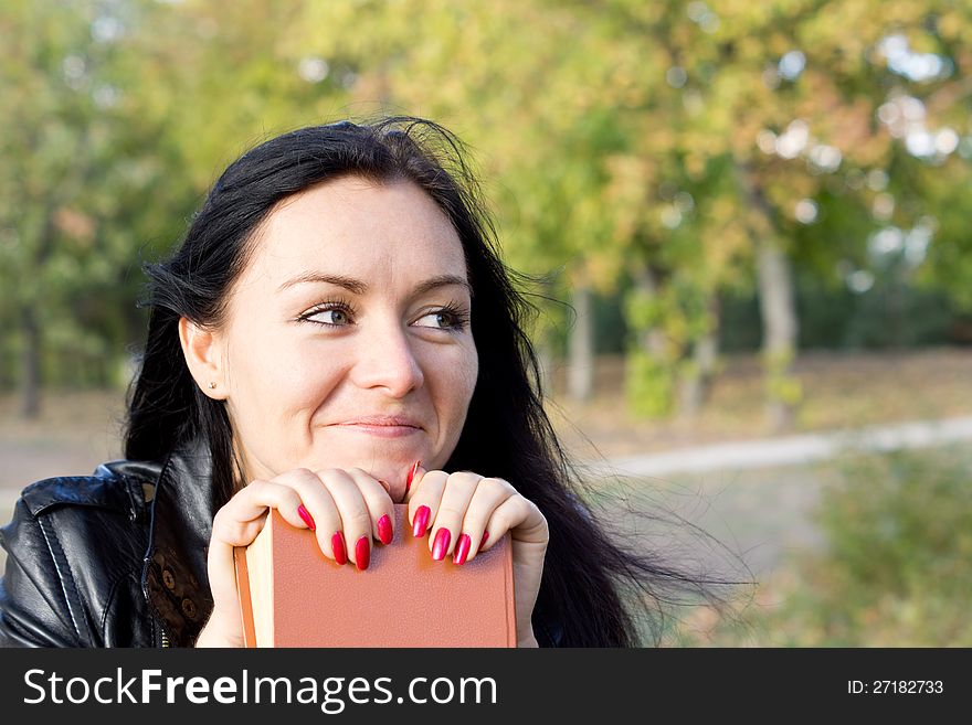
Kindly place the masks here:
[(406, 329), (382, 326), (373, 334), (361, 335), (352, 370), (361, 387), (384, 387), (389, 395), (403, 397), (422, 386), (425, 376), (415, 356), (414, 340)]

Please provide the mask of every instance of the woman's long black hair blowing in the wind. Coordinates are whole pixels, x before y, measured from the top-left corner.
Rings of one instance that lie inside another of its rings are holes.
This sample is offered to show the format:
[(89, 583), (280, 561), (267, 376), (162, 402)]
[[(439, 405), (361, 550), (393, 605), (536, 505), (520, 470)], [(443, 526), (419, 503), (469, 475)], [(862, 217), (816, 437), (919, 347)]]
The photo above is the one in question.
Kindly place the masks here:
[(159, 460), (181, 445), (202, 441), (213, 461), (213, 505), (225, 503), (241, 483), (230, 419), (223, 403), (203, 395), (190, 376), (179, 318), (207, 326), (221, 321), (252, 234), (281, 200), (342, 175), (409, 180), (452, 221), (474, 292), (479, 377), (446, 470), (507, 479), (547, 518), (550, 544), (535, 610), (541, 644), (636, 644), (631, 601), (642, 610), (649, 603), (647, 609), (662, 612), (666, 593), (704, 593), (704, 583), (619, 546), (582, 503), (578, 476), (543, 409), (540, 370), (525, 332), (536, 308), (499, 259), (495, 230), (465, 158), (459, 140), (441, 126), (395, 117), (302, 128), (233, 162), (176, 254), (146, 267), (151, 317), (130, 395), (125, 454)]

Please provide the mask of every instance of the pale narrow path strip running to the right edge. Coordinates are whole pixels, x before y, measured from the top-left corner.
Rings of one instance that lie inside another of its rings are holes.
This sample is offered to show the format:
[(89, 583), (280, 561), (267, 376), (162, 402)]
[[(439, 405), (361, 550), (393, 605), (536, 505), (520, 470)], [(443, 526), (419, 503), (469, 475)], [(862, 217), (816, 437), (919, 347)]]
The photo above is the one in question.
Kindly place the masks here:
[(925, 448), (972, 439), (972, 416), (923, 420), (856, 430), (807, 434), (683, 448), (664, 454), (625, 456), (593, 465), (605, 475), (657, 477), (672, 473), (702, 473), (722, 470), (805, 466), (834, 458), (846, 450), (890, 451)]

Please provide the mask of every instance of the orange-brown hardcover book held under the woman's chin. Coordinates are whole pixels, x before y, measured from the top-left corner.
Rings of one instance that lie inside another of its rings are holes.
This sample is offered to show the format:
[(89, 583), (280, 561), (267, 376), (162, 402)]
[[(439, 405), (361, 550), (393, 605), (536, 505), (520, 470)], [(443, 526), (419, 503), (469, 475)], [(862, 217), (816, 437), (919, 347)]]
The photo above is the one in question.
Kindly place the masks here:
[(246, 647), (516, 647), (509, 535), (462, 566), (435, 562), (394, 508), (394, 539), (363, 572), (272, 510), (234, 552)]

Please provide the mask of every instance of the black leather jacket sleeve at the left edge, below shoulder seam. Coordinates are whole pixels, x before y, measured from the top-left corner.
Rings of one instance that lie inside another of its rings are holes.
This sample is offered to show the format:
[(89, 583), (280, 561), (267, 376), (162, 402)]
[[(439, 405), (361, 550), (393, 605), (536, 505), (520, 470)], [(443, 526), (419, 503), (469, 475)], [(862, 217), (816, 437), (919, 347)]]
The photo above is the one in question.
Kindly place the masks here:
[[(7, 571), (0, 578), (0, 647), (83, 647), (74, 583), (50, 519), (34, 516), (23, 499), (0, 529)], [(66, 577), (66, 578), (65, 578)]]

